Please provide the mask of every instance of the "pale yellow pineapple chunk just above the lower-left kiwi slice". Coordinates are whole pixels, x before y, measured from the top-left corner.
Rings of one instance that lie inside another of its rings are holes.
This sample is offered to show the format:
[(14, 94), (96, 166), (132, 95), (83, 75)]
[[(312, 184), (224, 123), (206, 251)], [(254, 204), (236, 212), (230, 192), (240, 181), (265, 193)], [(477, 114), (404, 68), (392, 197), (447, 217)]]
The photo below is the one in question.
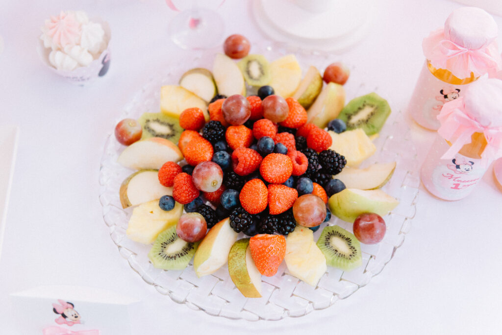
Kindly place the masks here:
[(175, 203), (170, 211), (159, 207), (159, 201), (153, 200), (135, 207), (129, 219), (127, 236), (136, 242), (150, 244), (167, 228), (176, 225), (183, 213), (183, 205)]

